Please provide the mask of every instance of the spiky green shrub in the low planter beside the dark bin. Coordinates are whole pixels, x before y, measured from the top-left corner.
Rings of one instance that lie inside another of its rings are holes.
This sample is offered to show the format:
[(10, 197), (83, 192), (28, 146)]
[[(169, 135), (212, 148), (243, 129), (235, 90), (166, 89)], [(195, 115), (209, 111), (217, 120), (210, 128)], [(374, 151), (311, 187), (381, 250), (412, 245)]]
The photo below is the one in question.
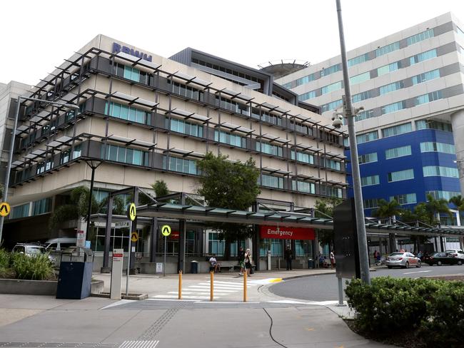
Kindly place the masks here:
[(18, 279), (49, 280), (54, 276), (53, 264), (48, 255), (28, 256), (14, 253), (12, 259), (12, 268)]

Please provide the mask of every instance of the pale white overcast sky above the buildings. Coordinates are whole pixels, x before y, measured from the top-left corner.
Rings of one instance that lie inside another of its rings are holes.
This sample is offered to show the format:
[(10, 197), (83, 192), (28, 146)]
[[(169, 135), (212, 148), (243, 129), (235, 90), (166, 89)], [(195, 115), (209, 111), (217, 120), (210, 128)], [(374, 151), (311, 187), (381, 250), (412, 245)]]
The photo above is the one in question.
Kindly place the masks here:
[[(452, 11), (463, 0), (342, 0), (347, 49)], [(188, 46), (257, 67), (340, 52), (335, 0), (6, 0), (0, 82), (35, 85), (97, 34), (168, 57)]]

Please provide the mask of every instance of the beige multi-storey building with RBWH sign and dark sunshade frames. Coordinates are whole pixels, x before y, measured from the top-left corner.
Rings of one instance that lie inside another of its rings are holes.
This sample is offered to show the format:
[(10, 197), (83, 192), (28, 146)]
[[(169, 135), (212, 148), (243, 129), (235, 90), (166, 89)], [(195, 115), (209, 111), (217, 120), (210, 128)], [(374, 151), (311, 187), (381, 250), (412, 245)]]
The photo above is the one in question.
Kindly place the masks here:
[[(343, 133), (318, 108), (271, 74), (190, 48), (173, 58), (181, 63), (99, 35), (32, 89), (28, 96), (44, 102), (21, 107), (7, 240), (75, 235), (77, 222), (49, 230), (47, 221), (72, 188), (89, 185), (86, 159), (102, 161), (97, 200), (133, 185), (149, 190), (156, 180), (196, 193), (196, 163), (208, 151), (253, 158), (268, 208), (305, 211), (316, 198), (346, 197)], [(79, 111), (46, 101), (75, 103)], [(191, 232), (192, 253), (221, 253), (215, 233)], [(94, 250), (103, 236), (99, 227)], [(127, 245), (116, 227), (111, 238), (111, 247)]]

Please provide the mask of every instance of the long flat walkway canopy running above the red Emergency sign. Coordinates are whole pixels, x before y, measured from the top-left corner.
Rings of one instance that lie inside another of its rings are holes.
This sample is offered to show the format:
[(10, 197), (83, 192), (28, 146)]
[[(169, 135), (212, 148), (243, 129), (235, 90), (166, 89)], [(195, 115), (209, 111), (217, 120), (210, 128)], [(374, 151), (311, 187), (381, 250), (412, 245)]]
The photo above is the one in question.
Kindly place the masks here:
[[(232, 210), (223, 208), (203, 207), (197, 205), (180, 205), (171, 203), (156, 203), (137, 207), (137, 216), (148, 218), (169, 218), (197, 220), (205, 222), (231, 222), (249, 225), (271, 225), (288, 227), (310, 227), (323, 230), (333, 230), (333, 219), (313, 218), (309, 214), (294, 212), (251, 212), (248, 210)], [(454, 227), (411, 227), (408, 225), (388, 225), (366, 222), (368, 233), (385, 234), (399, 233), (401, 235), (427, 235), (442, 237), (464, 236), (464, 228)]]

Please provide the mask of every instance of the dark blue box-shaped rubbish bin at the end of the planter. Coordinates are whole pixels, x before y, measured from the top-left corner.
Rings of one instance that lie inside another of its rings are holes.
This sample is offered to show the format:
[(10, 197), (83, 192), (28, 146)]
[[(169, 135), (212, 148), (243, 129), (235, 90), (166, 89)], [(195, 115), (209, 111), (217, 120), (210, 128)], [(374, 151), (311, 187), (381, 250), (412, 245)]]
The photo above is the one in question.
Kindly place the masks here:
[[(68, 256), (69, 261), (63, 261), (63, 257), (67, 259)], [(81, 300), (90, 296), (94, 267), (92, 256), (92, 250), (85, 247), (63, 252), (56, 287), (57, 299)]]

